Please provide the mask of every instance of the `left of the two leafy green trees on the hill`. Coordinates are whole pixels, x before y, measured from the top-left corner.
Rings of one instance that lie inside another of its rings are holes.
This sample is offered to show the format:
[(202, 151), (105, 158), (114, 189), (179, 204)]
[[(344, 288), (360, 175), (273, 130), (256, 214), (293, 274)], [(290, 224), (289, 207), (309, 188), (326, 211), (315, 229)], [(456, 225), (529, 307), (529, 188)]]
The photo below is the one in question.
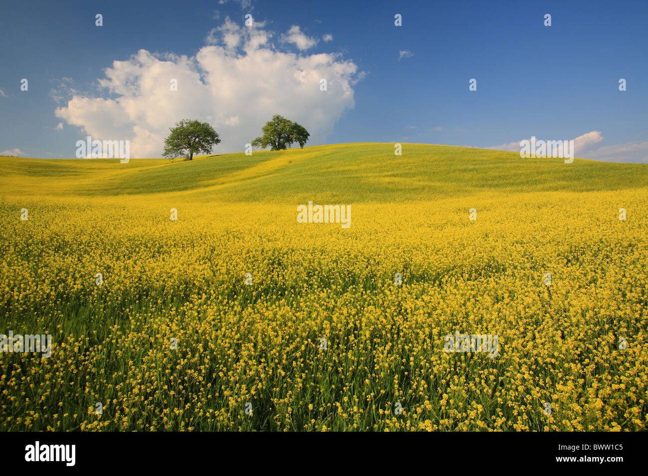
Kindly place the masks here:
[(191, 161), (194, 153), (211, 153), (213, 146), (220, 142), (218, 132), (207, 122), (183, 119), (169, 130), (162, 156), (170, 159), (186, 156)]

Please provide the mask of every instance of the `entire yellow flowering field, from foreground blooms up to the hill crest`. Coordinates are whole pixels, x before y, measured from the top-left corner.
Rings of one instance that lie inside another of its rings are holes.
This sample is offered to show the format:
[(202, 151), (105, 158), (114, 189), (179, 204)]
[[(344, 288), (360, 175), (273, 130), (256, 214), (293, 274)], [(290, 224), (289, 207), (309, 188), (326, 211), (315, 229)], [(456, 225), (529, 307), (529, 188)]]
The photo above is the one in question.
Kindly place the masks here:
[(647, 166), (393, 150), (0, 159), (0, 428), (647, 429)]

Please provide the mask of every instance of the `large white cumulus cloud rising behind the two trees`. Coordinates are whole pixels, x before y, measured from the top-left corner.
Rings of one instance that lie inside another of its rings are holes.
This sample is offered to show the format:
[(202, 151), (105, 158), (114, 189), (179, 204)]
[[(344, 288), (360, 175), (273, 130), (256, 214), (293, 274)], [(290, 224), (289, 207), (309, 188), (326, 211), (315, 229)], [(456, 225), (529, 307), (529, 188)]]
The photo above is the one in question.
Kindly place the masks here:
[[(354, 107), (353, 87), (363, 73), (340, 54), (280, 51), (263, 27), (228, 17), (195, 56), (141, 49), (104, 70), (103, 97), (75, 92), (55, 115), (93, 139), (130, 140), (132, 157), (159, 157), (180, 119), (214, 126), (222, 142), (213, 153), (242, 152), (274, 114), (307, 128), (309, 145), (325, 143), (345, 109)], [(327, 91), (319, 89), (322, 78)]]

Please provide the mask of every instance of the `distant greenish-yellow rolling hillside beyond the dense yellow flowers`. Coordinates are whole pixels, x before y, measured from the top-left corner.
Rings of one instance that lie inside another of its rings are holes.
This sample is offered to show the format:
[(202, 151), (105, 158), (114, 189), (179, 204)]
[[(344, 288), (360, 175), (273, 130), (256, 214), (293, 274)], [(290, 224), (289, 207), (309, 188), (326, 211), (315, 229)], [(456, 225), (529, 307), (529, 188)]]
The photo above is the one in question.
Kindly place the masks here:
[(4, 193), (113, 196), (192, 192), (224, 201), (325, 194), (341, 201), (402, 201), (482, 190), (619, 190), (648, 185), (646, 164), (520, 159), (515, 152), (426, 144), (336, 144), (230, 153), (194, 161), (0, 158)]

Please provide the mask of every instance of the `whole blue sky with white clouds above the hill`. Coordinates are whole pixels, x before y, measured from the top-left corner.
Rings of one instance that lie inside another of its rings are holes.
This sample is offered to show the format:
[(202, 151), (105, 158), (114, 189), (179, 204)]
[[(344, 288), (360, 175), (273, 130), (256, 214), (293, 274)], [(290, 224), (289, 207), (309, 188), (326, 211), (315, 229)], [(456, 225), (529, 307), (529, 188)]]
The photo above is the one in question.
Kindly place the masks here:
[(277, 112), (308, 145), (519, 150), (533, 135), (648, 162), (647, 17), (646, 1), (6, 3), (0, 153), (74, 157), (89, 133), (159, 157), (184, 117), (214, 124), (214, 153), (242, 151)]

